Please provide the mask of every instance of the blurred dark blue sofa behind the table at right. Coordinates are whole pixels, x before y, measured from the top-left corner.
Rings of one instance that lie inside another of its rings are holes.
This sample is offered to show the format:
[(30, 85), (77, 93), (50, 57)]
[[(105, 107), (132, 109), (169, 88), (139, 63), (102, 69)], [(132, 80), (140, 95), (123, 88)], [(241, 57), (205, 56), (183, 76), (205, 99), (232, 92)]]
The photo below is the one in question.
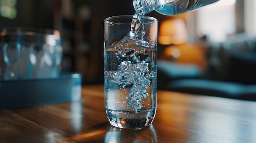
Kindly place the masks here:
[[(256, 101), (256, 37), (240, 33), (204, 47), (207, 67), (157, 61), (157, 88)], [(181, 53), (182, 54), (182, 53)]]

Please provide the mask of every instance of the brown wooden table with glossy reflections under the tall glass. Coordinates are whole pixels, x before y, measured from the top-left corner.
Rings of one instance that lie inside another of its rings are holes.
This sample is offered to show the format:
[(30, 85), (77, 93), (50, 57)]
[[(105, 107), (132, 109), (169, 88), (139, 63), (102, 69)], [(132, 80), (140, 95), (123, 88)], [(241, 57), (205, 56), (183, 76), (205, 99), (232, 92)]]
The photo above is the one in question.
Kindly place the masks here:
[(157, 91), (145, 128), (112, 127), (104, 87), (84, 86), (82, 100), (0, 110), (0, 143), (256, 143), (256, 102)]

